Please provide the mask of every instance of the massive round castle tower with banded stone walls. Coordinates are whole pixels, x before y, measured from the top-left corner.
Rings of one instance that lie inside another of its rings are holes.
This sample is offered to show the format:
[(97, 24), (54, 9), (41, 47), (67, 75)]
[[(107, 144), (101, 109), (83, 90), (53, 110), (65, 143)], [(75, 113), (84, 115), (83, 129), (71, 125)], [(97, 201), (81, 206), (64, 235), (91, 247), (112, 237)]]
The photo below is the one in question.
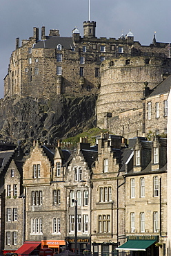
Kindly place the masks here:
[[(144, 82), (150, 89), (171, 74), (171, 59), (164, 57), (116, 57), (101, 65), (101, 91), (97, 100), (97, 125), (110, 128), (106, 118), (142, 109)], [(112, 131), (116, 132), (116, 131)]]

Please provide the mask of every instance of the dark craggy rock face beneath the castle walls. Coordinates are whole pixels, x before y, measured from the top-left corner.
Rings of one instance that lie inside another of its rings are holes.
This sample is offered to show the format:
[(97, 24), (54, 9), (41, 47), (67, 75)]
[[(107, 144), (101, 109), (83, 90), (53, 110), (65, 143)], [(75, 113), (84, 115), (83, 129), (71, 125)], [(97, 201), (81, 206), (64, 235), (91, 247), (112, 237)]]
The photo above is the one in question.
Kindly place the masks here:
[(3, 100), (0, 109), (0, 138), (32, 145), (32, 140), (57, 143), (83, 130), (96, 127), (97, 95), (82, 98), (18, 98)]

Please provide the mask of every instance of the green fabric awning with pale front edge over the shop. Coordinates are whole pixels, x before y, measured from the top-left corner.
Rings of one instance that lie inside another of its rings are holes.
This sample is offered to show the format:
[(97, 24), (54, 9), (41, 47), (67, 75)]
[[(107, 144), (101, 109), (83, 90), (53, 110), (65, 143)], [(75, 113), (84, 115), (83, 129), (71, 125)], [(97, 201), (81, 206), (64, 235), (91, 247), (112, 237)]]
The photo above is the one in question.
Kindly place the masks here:
[(116, 248), (117, 250), (146, 250), (156, 240), (128, 240), (125, 244)]

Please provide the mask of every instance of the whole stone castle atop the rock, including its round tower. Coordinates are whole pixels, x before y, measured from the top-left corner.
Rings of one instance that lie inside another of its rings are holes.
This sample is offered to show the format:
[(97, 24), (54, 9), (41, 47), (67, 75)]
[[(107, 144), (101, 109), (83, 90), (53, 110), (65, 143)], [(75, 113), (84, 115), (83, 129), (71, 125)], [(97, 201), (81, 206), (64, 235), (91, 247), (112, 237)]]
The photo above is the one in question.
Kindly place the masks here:
[[(17, 38), (4, 78), (4, 97), (88, 95), (99, 93), (102, 85), (97, 106), (99, 124), (108, 106), (112, 111), (139, 108), (143, 82), (147, 80), (152, 87), (161, 82), (163, 73), (170, 73), (168, 44), (157, 43), (154, 38), (150, 46), (141, 46), (131, 32), (119, 39), (97, 38), (95, 29), (95, 21), (84, 21), (83, 37), (77, 28), (72, 30), (72, 37), (61, 37), (59, 30), (50, 30), (46, 36), (42, 27), (41, 40), (39, 28), (34, 28), (33, 37), (22, 40), (21, 46)], [(101, 76), (101, 62), (108, 59), (111, 60), (104, 63)], [(125, 107), (120, 104), (121, 99)]]

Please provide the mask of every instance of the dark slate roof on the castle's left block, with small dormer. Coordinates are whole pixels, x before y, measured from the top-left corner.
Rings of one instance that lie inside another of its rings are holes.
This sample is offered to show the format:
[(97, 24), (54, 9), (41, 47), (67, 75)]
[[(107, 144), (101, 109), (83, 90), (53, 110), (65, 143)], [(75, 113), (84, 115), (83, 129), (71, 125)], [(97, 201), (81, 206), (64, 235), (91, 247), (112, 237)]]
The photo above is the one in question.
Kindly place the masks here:
[(46, 40), (37, 42), (34, 48), (57, 48), (58, 44), (61, 44), (62, 48), (65, 49), (74, 48), (72, 37), (49, 37)]

